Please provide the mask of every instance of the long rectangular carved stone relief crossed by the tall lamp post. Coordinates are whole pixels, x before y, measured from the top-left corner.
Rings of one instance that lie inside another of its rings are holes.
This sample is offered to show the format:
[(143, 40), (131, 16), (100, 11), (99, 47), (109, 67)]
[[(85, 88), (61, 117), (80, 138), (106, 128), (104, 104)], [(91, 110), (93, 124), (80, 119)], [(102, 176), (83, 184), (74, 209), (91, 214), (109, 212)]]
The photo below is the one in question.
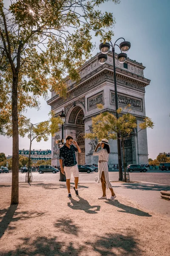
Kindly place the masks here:
[[(115, 103), (115, 94), (111, 92), (111, 103)], [(127, 96), (118, 95), (118, 104), (129, 105), (142, 111), (142, 99), (132, 99)]]

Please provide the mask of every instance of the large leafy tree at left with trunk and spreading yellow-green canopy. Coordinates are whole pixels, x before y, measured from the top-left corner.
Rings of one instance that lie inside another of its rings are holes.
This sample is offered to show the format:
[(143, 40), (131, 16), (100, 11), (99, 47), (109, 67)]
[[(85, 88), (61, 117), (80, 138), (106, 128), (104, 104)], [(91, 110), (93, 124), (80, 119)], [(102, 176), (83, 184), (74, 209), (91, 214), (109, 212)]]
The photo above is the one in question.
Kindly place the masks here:
[(6, 134), (12, 121), (11, 204), (19, 202), (22, 113), (38, 108), (38, 97), (47, 96), (49, 88), (65, 96), (65, 74), (79, 80), (78, 68), (94, 49), (91, 31), (102, 41), (111, 39), (113, 32), (105, 29), (114, 25), (113, 15), (97, 10), (107, 1), (0, 0), (0, 133)]

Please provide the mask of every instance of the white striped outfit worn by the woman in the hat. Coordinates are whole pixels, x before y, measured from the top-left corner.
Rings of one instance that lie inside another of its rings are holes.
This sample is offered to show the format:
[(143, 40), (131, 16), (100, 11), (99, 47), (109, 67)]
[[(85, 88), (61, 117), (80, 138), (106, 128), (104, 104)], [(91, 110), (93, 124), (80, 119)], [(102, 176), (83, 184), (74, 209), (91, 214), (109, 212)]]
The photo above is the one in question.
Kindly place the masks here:
[(94, 152), (93, 153), (94, 156), (99, 156), (99, 161), (104, 160), (106, 162), (98, 162), (98, 176), (95, 177), (95, 181), (97, 183), (100, 182), (101, 176), (102, 176), (102, 172), (104, 172), (105, 174), (105, 181), (106, 181), (106, 188), (110, 188), (112, 189), (112, 185), (109, 182), (109, 172), (108, 172), (108, 160), (109, 160), (109, 154), (107, 149), (102, 148), (101, 150)]

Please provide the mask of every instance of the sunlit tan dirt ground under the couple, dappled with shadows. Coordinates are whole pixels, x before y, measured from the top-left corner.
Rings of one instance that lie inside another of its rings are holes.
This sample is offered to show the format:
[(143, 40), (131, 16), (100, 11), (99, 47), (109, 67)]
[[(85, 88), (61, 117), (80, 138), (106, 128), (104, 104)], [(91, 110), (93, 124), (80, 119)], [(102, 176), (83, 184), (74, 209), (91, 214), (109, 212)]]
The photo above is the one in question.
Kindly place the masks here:
[(64, 184), (0, 185), (1, 256), (169, 256), (170, 219), (146, 212), (120, 195), (98, 200), (101, 188), (81, 184), (79, 196)]

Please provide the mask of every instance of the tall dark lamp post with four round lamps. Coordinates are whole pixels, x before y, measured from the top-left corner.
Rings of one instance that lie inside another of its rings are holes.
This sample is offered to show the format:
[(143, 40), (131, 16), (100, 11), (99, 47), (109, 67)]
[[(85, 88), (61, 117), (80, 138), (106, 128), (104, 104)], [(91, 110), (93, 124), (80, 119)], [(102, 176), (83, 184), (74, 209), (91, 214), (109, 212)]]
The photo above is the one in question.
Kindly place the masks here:
[[(117, 45), (116, 42), (119, 39), (123, 39), (124, 41)], [(119, 119), (119, 115), (117, 113), (118, 110), (118, 98), (117, 98), (117, 85), (116, 85), (116, 67), (115, 67), (115, 46), (118, 46), (121, 50), (121, 53), (117, 55), (117, 60), (120, 63), (124, 63), (127, 60), (127, 54), (126, 52), (130, 49), (130, 42), (125, 41), (124, 38), (118, 38), (114, 43), (110, 41), (111, 45), (109, 43), (102, 43), (99, 45), (99, 49), (102, 52), (98, 55), (98, 61), (100, 64), (104, 64), (107, 59), (107, 53), (112, 46), (112, 52), (113, 52), (113, 72), (114, 72), (114, 93), (115, 93), (115, 106), (116, 106), (116, 118)], [(117, 148), (118, 148), (118, 163), (119, 163), (119, 180), (123, 180), (123, 174), (122, 174), (122, 154), (121, 154), (121, 142), (120, 142), (120, 134), (117, 134)]]

